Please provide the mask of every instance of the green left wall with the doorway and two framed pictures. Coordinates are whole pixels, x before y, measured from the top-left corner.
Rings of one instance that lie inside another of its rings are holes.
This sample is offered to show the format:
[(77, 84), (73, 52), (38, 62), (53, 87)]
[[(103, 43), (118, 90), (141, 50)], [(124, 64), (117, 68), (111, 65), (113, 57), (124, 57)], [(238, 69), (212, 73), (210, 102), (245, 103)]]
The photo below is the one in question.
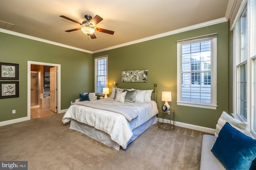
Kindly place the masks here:
[[(92, 92), (92, 54), (0, 33), (0, 62), (19, 64), (19, 98), (0, 99), (0, 121), (27, 116), (28, 61), (61, 65), (61, 109)], [(12, 110), (16, 113), (12, 114)]]

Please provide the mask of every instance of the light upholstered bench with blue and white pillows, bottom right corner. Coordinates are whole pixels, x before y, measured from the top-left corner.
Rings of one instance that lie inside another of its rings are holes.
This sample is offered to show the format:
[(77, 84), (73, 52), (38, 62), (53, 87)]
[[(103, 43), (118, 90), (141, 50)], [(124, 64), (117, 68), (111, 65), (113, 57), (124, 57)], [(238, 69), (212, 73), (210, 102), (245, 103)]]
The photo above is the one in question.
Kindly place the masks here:
[(215, 136), (203, 135), (200, 170), (255, 170), (256, 140), (248, 132), (248, 123), (223, 111)]

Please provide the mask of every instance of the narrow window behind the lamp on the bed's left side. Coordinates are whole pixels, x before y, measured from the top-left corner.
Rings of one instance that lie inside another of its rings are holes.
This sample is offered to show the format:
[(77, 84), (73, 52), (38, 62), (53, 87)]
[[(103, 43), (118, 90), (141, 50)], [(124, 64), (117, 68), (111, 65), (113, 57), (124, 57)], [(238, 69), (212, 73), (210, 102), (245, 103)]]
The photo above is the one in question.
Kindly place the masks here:
[(95, 91), (96, 93), (102, 94), (103, 88), (106, 87), (107, 84), (107, 59), (108, 56), (102, 56), (94, 58), (95, 64)]

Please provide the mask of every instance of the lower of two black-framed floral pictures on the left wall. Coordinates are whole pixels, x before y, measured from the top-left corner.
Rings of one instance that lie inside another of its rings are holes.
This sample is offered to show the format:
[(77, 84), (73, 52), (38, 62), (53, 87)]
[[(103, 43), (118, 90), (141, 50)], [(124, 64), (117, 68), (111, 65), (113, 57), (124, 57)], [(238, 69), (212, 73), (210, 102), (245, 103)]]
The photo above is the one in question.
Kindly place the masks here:
[(19, 82), (0, 82), (0, 99), (18, 98), (19, 97)]

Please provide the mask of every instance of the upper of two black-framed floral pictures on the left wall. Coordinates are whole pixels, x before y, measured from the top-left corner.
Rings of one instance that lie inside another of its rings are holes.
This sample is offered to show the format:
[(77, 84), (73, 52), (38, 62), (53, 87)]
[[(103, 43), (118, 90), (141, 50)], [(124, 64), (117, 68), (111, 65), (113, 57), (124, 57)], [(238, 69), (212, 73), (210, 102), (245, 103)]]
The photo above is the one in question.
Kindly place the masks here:
[(19, 64), (0, 63), (0, 80), (19, 80)]

